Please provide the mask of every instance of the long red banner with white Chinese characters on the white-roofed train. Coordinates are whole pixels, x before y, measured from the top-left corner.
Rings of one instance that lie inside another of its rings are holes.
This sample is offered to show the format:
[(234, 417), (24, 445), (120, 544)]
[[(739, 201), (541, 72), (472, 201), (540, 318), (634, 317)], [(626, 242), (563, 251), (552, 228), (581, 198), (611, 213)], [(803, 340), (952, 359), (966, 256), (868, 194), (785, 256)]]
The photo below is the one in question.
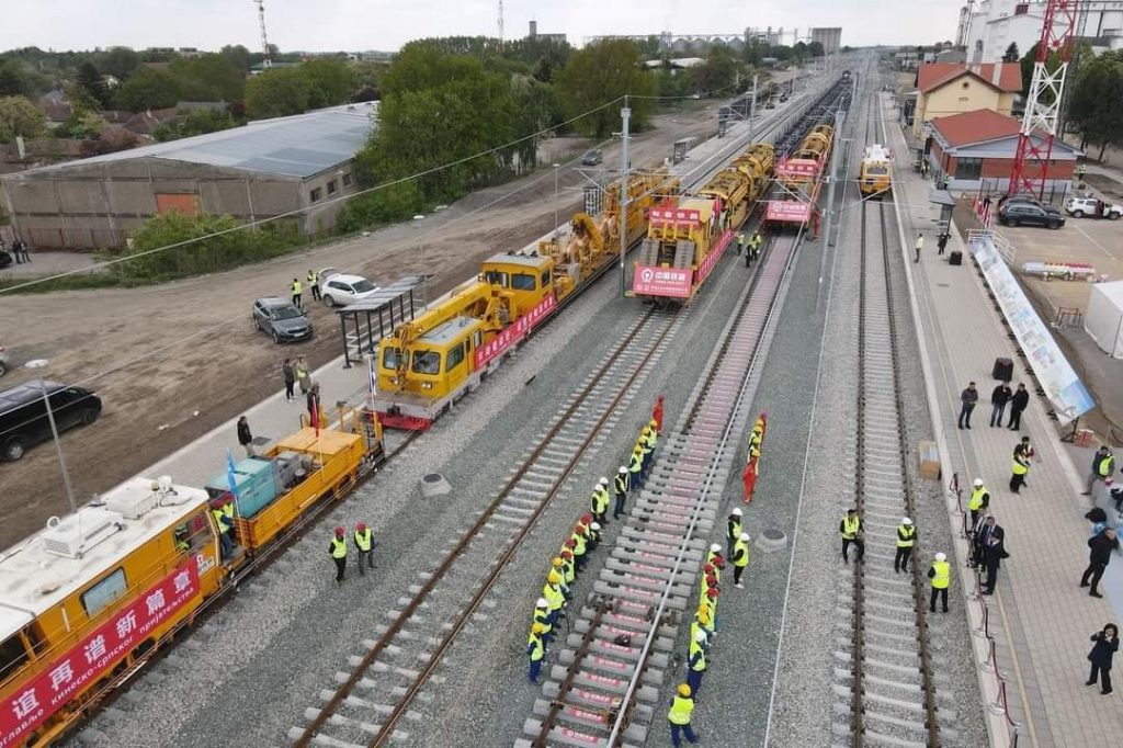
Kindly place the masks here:
[(199, 572), (192, 559), (138, 595), (37, 678), (4, 696), (0, 748), (19, 744), (197, 594)]

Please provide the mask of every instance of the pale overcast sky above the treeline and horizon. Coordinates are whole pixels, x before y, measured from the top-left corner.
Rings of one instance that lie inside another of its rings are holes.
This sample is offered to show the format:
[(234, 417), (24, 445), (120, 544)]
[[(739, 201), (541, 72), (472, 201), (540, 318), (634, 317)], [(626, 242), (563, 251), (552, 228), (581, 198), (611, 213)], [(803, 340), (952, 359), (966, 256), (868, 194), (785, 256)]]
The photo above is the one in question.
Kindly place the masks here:
[[(740, 33), (748, 26), (842, 27), (842, 43), (921, 44), (955, 38), (964, 0), (505, 0), (508, 38), (540, 33), (581, 44), (596, 34)], [(259, 45), (253, 0), (11, 0), (0, 49), (126, 45)], [(282, 49), (396, 49), (422, 36), (494, 35), (497, 0), (266, 0), (270, 40)], [(892, 19), (885, 13), (892, 12)]]

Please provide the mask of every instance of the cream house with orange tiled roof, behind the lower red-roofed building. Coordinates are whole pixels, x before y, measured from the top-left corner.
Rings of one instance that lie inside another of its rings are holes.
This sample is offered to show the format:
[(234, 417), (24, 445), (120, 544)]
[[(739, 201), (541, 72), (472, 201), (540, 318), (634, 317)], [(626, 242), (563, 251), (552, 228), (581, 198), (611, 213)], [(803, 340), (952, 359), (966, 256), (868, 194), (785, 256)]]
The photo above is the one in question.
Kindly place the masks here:
[(916, 70), (913, 135), (924, 138), (924, 126), (938, 117), (979, 109), (1010, 115), (1022, 91), (1019, 63), (931, 63)]

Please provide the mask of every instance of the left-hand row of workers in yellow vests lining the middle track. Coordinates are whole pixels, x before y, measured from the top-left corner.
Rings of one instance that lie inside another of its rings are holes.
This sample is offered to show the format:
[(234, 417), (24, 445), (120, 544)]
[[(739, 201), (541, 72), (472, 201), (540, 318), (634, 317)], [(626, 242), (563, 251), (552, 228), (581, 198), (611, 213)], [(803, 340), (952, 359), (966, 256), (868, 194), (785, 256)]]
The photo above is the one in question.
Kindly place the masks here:
[[(659, 441), (659, 426), (663, 420), (663, 398), (656, 404), (652, 418), (640, 431), (632, 447), (627, 465), (621, 465), (612, 481), (615, 493), (613, 519), (620, 519), (624, 513), (629, 491), (642, 490), (648, 472), (655, 463), (655, 448)], [(582, 514), (573, 533), (563, 542), (558, 555), (550, 562), (546, 574), (542, 595), (535, 604), (533, 618), (530, 623), (530, 636), (527, 639), (527, 656), (530, 658), (530, 669), (527, 677), (531, 683), (538, 683), (546, 658), (546, 649), (554, 639), (555, 627), (565, 618), (565, 608), (573, 598), (573, 584), (577, 574), (585, 567), (586, 556), (600, 544), (601, 531), (608, 526), (609, 478), (602, 477), (593, 486), (590, 500), (590, 511)]]

